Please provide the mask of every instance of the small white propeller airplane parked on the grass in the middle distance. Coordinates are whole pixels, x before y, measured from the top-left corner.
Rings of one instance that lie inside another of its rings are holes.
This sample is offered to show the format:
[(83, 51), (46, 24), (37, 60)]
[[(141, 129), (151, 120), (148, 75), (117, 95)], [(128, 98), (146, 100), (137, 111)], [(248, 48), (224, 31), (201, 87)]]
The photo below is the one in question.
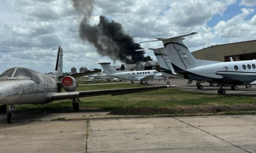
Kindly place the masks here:
[[(131, 80), (132, 84), (134, 81), (140, 81), (140, 84), (148, 85), (149, 80), (163, 80), (165, 77), (156, 70), (144, 70), (144, 71), (116, 71), (110, 62), (99, 63), (106, 75), (113, 78), (122, 78), (125, 80)], [(143, 82), (145, 81), (145, 83)]]

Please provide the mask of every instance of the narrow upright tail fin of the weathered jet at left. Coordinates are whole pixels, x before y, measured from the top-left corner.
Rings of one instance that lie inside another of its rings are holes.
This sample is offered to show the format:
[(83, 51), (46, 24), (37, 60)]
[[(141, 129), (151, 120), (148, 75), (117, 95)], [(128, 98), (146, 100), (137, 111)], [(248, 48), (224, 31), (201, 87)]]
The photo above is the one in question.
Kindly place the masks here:
[(56, 81), (60, 81), (59, 77), (63, 73), (63, 50), (61, 47), (58, 49), (58, 57), (56, 61), (56, 67), (55, 67), (55, 73), (54, 73), (54, 79)]

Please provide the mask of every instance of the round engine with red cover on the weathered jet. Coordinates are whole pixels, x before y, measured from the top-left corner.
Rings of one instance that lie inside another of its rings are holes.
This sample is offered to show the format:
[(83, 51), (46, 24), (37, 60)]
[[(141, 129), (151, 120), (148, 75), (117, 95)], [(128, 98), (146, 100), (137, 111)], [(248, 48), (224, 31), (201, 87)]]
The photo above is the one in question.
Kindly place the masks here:
[(66, 76), (62, 78), (61, 80), (62, 87), (67, 92), (73, 92), (76, 91), (76, 88), (78, 87), (78, 84), (76, 82), (76, 79), (70, 76)]

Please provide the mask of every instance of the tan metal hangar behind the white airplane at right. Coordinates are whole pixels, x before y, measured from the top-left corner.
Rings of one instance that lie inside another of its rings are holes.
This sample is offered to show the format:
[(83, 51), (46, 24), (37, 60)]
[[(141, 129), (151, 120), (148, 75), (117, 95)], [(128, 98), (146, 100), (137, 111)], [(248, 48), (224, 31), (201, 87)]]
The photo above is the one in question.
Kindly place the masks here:
[(224, 45), (212, 45), (192, 52), (196, 59), (205, 59), (210, 61), (244, 61), (256, 59), (256, 40), (243, 41), (238, 43), (228, 43)]

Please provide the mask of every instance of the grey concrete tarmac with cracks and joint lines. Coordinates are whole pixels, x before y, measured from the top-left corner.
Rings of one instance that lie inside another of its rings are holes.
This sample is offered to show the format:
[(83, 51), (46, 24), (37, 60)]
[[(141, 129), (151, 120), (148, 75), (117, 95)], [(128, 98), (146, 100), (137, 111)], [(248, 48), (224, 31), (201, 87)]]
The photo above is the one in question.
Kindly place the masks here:
[[(170, 81), (182, 90), (216, 93), (218, 89), (205, 84), (198, 90), (195, 83)], [(239, 87), (227, 94), (253, 96), (255, 91)], [(72, 109), (32, 110), (15, 113), (13, 124), (7, 124), (6, 115), (0, 114), (0, 152), (256, 152), (256, 115), (85, 118), (108, 113), (97, 109), (76, 113)]]

